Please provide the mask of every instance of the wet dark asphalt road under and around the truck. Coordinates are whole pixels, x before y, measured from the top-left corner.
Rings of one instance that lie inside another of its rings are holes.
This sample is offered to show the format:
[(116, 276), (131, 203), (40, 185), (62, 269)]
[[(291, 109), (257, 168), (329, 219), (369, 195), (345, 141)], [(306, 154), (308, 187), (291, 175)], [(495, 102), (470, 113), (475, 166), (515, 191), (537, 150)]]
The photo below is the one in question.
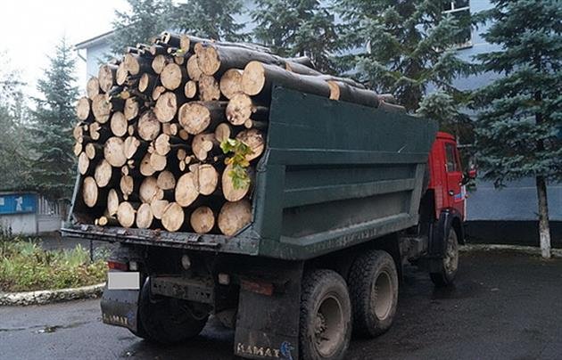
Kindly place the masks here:
[[(562, 358), (562, 260), (473, 252), (460, 265), (450, 290), (409, 269), (393, 328), (352, 340), (348, 358)], [(232, 359), (233, 336), (211, 320), (188, 344), (159, 348), (101, 323), (99, 300), (0, 307), (1, 359)]]

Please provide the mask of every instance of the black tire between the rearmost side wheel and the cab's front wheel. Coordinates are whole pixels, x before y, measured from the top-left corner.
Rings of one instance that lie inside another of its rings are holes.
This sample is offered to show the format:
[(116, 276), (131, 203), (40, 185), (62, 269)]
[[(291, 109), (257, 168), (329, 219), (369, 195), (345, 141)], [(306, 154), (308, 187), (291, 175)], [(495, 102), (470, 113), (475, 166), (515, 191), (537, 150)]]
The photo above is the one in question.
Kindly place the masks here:
[(348, 283), (353, 333), (374, 338), (390, 329), (398, 307), (398, 272), (393, 258), (383, 250), (361, 254), (353, 261)]

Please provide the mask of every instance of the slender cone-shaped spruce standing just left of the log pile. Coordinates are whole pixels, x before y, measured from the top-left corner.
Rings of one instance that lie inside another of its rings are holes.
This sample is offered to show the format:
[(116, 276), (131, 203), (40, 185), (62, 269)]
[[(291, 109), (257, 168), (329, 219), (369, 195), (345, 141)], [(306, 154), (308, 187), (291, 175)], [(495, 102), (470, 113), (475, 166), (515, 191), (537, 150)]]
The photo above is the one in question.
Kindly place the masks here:
[(31, 177), (37, 190), (53, 200), (70, 198), (76, 175), (71, 128), (79, 91), (72, 52), (63, 38), (49, 57), (45, 78), (38, 80), (41, 97), (34, 99), (36, 109), (31, 111)]

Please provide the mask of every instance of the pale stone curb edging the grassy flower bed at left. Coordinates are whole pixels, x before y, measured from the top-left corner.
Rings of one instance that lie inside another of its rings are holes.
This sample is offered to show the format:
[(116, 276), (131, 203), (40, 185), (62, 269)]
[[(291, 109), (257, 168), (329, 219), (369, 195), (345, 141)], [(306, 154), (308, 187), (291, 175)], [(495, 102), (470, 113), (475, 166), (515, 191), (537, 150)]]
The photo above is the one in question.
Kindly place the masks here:
[(59, 301), (95, 299), (103, 292), (105, 282), (80, 288), (0, 293), (0, 306), (45, 305)]

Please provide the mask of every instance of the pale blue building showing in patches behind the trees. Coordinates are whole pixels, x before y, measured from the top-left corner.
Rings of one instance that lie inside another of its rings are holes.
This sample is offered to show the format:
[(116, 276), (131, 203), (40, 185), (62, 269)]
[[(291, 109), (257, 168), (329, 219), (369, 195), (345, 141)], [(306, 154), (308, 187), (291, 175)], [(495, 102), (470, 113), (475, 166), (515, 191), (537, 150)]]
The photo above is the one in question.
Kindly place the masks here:
[[(446, 12), (462, 17), (491, 7), (489, 0), (453, 0)], [(252, 8), (252, 0), (246, 0), (246, 8)], [(252, 19), (248, 14), (240, 16), (238, 22), (246, 24), (245, 31), (252, 29)], [(466, 42), (458, 49), (462, 59), (472, 61), (478, 53), (498, 49), (483, 39), (482, 34), (487, 28), (467, 28)], [(97, 76), (99, 64), (110, 53), (111, 35), (112, 32), (108, 32), (76, 45), (80, 57), (87, 63), (88, 78)], [(485, 73), (459, 78), (455, 85), (460, 89), (473, 90), (499, 77), (499, 74)], [(477, 180), (475, 189), (468, 196), (467, 233), (471, 241), (538, 244), (538, 205), (533, 178), (507, 183), (503, 189), (496, 189), (492, 182)], [(549, 203), (552, 244), (562, 248), (562, 184), (549, 185)]]

